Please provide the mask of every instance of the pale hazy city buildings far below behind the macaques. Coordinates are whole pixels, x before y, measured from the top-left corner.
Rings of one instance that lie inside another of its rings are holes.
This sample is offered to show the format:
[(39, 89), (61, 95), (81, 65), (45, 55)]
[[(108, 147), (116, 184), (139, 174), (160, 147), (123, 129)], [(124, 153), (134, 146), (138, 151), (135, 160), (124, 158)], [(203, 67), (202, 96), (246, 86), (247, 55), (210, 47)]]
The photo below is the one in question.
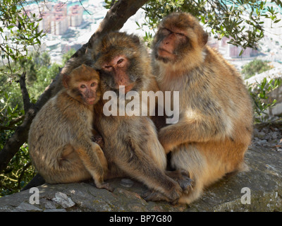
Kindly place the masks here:
[[(25, 13), (36, 13), (42, 18), (39, 22), (39, 30), (47, 32), (42, 42), (42, 51), (49, 51), (51, 61), (61, 61), (63, 53), (71, 48), (79, 49), (97, 30), (99, 23), (106, 16), (107, 9), (104, 8), (104, 4), (104, 0), (49, 0), (39, 3), (30, 1), (30, 4), (25, 6)], [(277, 18), (281, 19), (282, 9), (278, 7), (275, 9), (278, 11)], [(135, 21), (141, 25), (144, 20), (145, 13), (140, 9), (128, 19), (121, 30), (142, 37), (147, 28), (138, 29)], [(221, 40), (210, 37), (209, 45), (218, 49), (239, 70), (241, 66), (256, 57), (270, 61), (274, 67), (282, 66), (282, 20), (271, 24), (271, 20), (265, 19), (264, 28), (265, 37), (259, 42), (258, 49), (247, 48), (241, 56), (239, 54), (242, 48), (228, 44), (226, 37)], [(146, 31), (153, 32), (149, 29)]]

